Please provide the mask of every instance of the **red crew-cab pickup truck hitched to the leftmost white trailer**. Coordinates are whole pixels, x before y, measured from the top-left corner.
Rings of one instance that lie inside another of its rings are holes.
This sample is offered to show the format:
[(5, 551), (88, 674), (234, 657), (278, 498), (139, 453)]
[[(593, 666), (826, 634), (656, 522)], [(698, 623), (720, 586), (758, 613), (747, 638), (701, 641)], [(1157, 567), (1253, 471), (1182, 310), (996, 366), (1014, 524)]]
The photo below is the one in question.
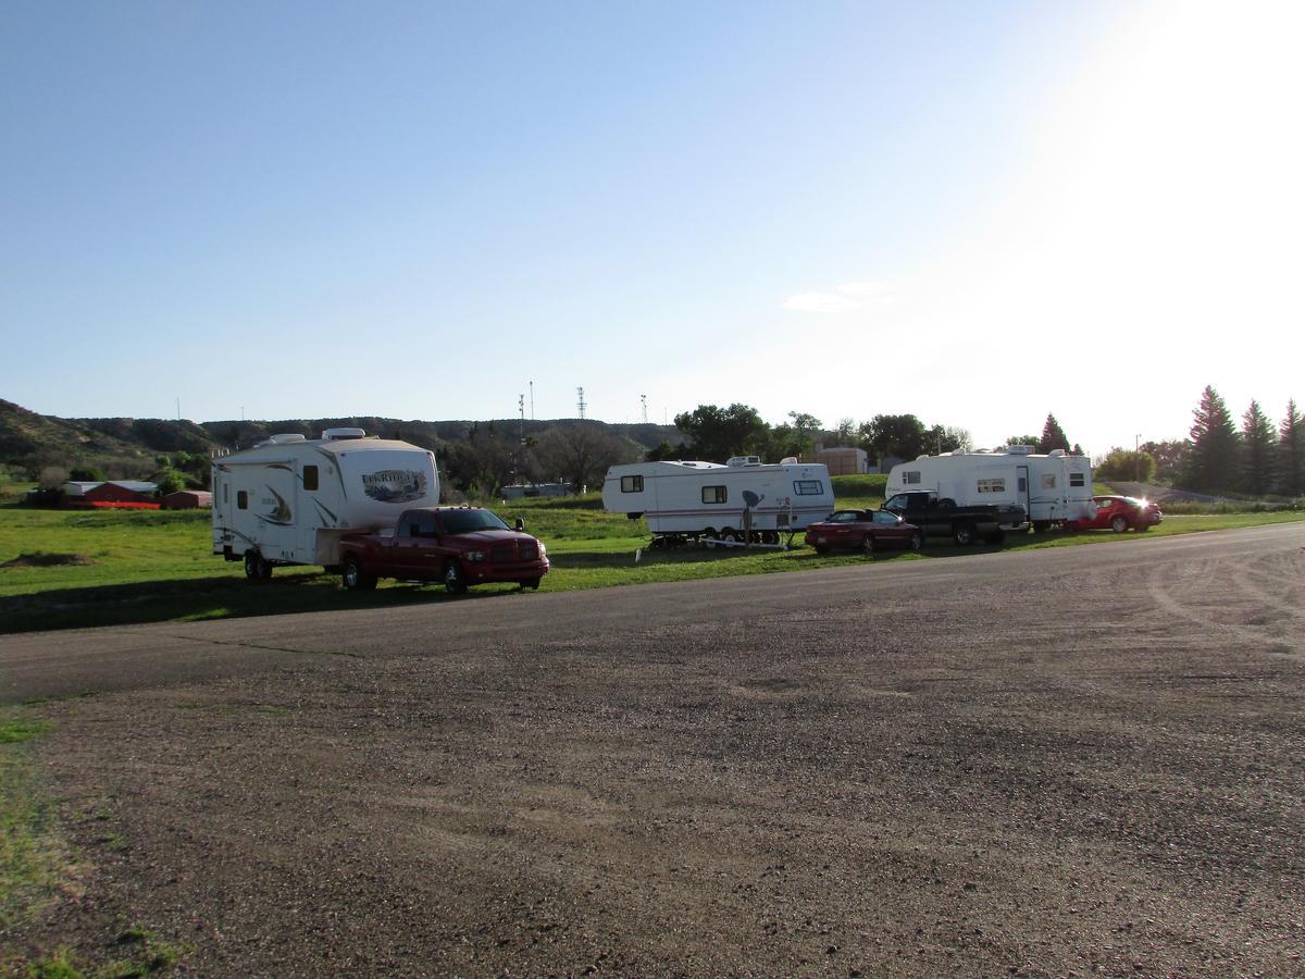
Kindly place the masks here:
[(548, 573), (544, 546), (479, 506), (405, 510), (393, 531), (341, 538), (341, 576), (347, 589), (375, 589), (377, 578), (442, 581), (454, 594), (487, 581), (538, 589)]

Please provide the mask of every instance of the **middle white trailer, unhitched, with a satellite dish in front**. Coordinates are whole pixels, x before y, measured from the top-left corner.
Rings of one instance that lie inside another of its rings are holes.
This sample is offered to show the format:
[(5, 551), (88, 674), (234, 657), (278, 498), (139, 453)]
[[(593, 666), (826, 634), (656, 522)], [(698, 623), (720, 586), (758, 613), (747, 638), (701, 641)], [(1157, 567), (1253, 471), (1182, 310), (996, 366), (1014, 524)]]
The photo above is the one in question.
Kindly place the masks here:
[(733, 544), (753, 539), (778, 544), (779, 535), (805, 530), (834, 509), (834, 487), (821, 463), (756, 456), (719, 462), (634, 462), (612, 466), (603, 480), (603, 509), (643, 517), (654, 543), (684, 539)]

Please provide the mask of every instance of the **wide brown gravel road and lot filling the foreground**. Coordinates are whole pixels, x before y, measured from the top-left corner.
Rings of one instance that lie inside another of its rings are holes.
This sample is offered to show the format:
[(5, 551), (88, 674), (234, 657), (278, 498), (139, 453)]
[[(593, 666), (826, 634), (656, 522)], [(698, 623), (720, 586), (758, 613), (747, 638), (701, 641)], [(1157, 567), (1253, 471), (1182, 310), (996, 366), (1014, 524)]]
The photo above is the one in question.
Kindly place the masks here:
[(129, 922), (204, 975), (1300, 975), (1302, 694), (1300, 523), (7, 637), (82, 894), (8, 937)]

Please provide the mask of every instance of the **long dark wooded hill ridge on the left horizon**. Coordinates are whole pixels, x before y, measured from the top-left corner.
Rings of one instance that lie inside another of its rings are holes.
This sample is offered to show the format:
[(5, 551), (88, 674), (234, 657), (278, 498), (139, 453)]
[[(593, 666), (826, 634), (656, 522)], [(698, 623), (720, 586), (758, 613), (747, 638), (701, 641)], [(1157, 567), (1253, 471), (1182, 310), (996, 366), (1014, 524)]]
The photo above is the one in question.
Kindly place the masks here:
[(97, 466), (110, 478), (136, 478), (155, 470), (161, 454), (243, 449), (279, 432), (316, 439), (325, 428), (364, 428), (369, 435), (402, 439), (438, 452), (448, 444), (466, 441), (472, 429), (493, 427), (505, 439), (521, 435), (538, 439), (549, 428), (573, 424), (595, 426), (643, 448), (662, 441), (677, 444), (683, 439), (673, 426), (608, 424), (592, 419), (423, 422), (367, 416), (197, 424), (164, 418), (57, 418), (0, 399), (0, 463), (23, 469), (31, 479), (47, 466)]

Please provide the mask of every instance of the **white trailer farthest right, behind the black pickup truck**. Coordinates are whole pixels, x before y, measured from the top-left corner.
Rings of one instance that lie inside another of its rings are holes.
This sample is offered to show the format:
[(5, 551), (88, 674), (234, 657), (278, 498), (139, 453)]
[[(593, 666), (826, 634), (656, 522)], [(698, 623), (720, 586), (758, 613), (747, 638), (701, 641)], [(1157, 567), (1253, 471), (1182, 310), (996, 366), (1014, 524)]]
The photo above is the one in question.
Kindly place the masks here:
[(1014, 504), (1023, 506), (1034, 530), (1094, 516), (1092, 465), (1087, 456), (1052, 449), (1034, 454), (1031, 445), (1001, 452), (944, 452), (899, 462), (889, 473), (885, 496), (932, 491), (958, 506)]

